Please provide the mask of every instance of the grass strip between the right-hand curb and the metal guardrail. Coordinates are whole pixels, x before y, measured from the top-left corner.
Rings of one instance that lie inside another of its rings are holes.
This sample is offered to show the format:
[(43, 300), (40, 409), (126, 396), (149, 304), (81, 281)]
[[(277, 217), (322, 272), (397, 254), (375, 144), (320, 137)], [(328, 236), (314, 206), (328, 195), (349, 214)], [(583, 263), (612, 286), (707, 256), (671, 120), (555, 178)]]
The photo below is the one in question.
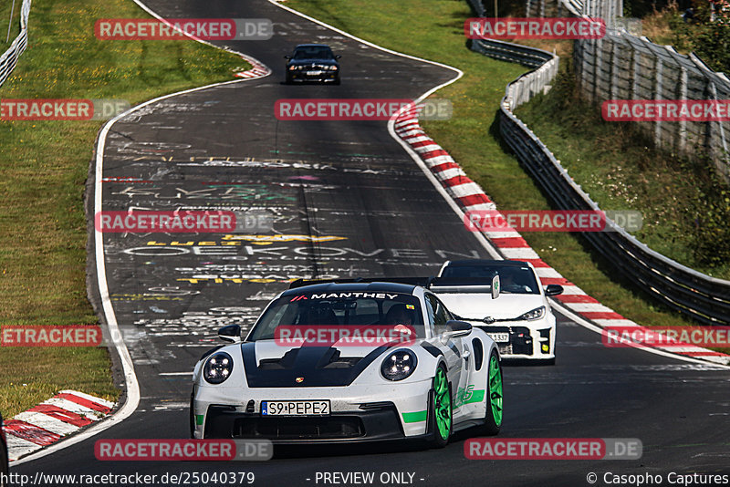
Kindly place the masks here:
[[(287, 5), (382, 47), (440, 61), (464, 78), (434, 94), (450, 98), (454, 118), (424, 122), (469, 176), (506, 210), (549, 210), (546, 196), (506, 153), (495, 115), (506, 84), (525, 68), (483, 57), (465, 47), (466, 2), (454, 0), (290, 0)], [(655, 303), (618, 275), (579, 235), (524, 233), (558, 272), (623, 316), (643, 325), (688, 325), (683, 316)]]

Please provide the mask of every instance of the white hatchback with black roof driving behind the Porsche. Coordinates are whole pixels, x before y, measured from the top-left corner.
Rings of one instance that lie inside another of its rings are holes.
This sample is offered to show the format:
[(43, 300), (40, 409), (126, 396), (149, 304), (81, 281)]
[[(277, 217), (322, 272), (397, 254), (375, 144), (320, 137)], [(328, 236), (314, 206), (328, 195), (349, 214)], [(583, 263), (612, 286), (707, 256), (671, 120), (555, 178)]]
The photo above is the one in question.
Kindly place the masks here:
[(547, 296), (563, 287), (543, 288), (532, 264), (447, 261), (429, 288), (458, 319), (494, 338), (502, 357), (555, 363), (556, 322)]

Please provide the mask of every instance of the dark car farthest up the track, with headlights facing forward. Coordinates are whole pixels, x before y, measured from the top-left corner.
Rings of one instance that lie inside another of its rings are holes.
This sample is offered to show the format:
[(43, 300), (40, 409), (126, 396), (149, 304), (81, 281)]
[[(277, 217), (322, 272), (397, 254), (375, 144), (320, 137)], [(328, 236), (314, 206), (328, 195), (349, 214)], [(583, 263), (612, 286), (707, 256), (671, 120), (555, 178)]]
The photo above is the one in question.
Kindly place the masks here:
[(325, 44), (300, 44), (287, 58), (287, 85), (319, 82), (339, 85), (339, 56)]

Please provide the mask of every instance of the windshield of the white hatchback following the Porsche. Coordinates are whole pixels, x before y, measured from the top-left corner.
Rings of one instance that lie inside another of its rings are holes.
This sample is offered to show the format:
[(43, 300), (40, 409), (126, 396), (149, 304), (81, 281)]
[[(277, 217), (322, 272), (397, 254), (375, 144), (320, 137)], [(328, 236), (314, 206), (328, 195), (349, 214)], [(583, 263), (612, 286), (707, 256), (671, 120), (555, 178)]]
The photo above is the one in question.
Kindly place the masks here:
[(540, 294), (535, 273), (527, 265), (447, 265), (438, 285), (491, 285), (497, 274), (501, 293)]

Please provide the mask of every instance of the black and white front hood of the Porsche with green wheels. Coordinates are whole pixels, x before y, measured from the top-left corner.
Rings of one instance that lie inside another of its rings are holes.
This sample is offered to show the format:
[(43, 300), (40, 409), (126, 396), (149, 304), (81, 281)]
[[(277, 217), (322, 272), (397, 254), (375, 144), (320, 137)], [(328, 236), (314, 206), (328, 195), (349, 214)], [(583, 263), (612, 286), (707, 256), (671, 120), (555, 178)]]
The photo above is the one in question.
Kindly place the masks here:
[(250, 388), (335, 387), (348, 386), (388, 348), (287, 347), (257, 340), (241, 344), (241, 353)]

